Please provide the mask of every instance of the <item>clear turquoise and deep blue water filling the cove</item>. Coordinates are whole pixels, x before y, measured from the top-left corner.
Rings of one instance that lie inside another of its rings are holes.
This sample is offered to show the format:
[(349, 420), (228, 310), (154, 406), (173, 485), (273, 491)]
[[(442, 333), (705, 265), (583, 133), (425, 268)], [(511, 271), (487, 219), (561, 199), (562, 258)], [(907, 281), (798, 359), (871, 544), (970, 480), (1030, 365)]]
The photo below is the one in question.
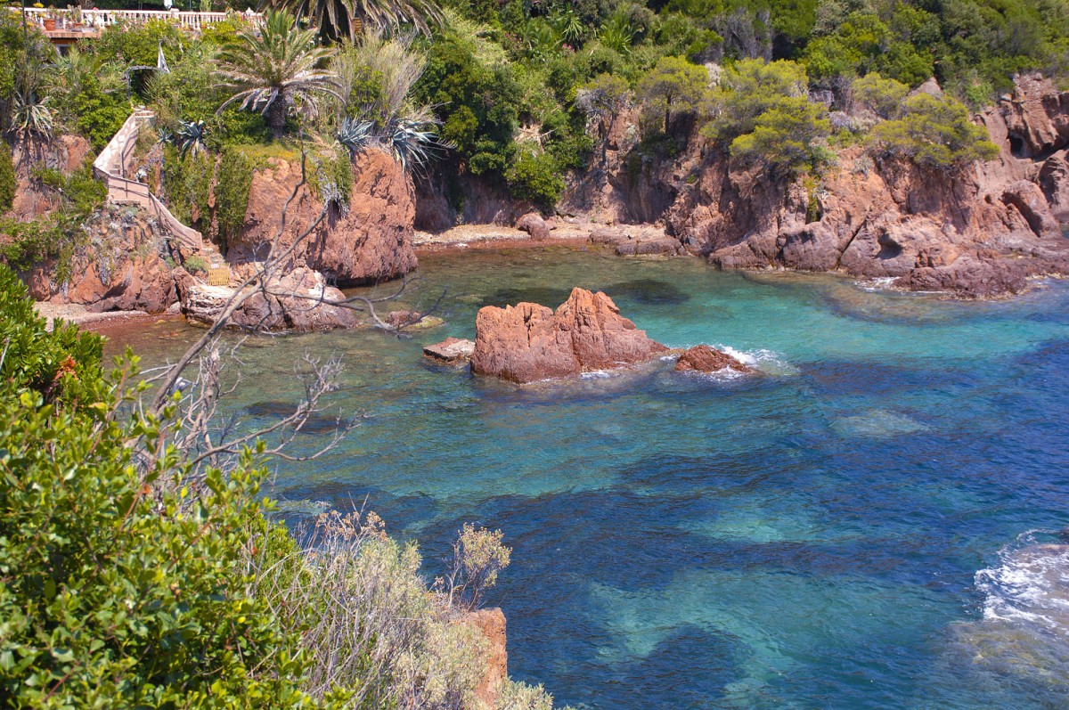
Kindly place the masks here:
[[(986, 614), (1050, 584), (1021, 566), (1069, 524), (1065, 285), (962, 304), (569, 249), (433, 254), (421, 277), (396, 307), (448, 289), (447, 325), (258, 339), (235, 412), (268, 418), (300, 354), (341, 354), (335, 404), (368, 419), (280, 466), (274, 495), (367, 500), (429, 574), (462, 522), (503, 529), (513, 566), (491, 603), (514, 677), (614, 710), (1069, 707), (1056, 595), (1042, 623)], [(556, 306), (573, 285), (769, 374), (660, 362), (521, 388), (420, 356), (474, 336), (482, 305)], [(191, 337), (118, 335), (149, 361)]]

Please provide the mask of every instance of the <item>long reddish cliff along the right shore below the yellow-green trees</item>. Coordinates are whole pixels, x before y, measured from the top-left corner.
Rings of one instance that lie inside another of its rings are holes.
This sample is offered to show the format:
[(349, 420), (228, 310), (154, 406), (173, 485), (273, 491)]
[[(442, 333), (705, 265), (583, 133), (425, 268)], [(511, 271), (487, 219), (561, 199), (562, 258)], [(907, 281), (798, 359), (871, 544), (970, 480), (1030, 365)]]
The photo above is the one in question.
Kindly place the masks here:
[(1069, 273), (1069, 93), (1020, 77), (976, 121), (1001, 149), (994, 160), (945, 172), (853, 146), (819, 183), (774, 180), (697, 138), (678, 158), (642, 156), (633, 123), (618, 121), (604, 164), (573, 181), (562, 206), (660, 220), (727, 268), (838, 271), (970, 297)]

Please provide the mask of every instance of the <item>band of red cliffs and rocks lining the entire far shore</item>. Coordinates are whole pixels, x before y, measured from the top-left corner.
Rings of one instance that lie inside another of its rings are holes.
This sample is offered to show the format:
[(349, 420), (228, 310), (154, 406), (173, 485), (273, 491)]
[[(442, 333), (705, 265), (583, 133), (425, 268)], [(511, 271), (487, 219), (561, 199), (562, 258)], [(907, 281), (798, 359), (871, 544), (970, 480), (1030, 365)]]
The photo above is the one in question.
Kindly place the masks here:
[[(837, 166), (819, 184), (777, 182), (707, 151), (692, 136), (679, 156), (653, 159), (629, 176), (635, 118), (621, 117), (619, 135), (609, 137), (601, 179), (597, 171), (570, 176), (556, 215), (495, 202), (500, 209), (471, 215), (491, 223), (450, 228), (435, 219), (440, 231), (434, 233), (415, 229), (432, 226), (419, 218), (429, 198), (391, 156), (368, 151), (356, 158), (347, 211), (331, 207), (328, 223), (292, 254), (292, 266), (311, 268), (332, 285), (360, 284), (403, 276), (417, 266), (419, 252), (560, 245), (633, 259), (692, 256), (717, 268), (841, 274), (966, 299), (1012, 296), (1038, 279), (1069, 274), (1063, 232), (1069, 223), (1069, 92), (1039, 75), (1017, 77), (1011, 94), (974, 117), (1000, 153), (956, 172), (878, 159), (851, 146), (838, 151)], [(83, 145), (65, 141), (53, 161), (69, 170), (83, 154)], [(298, 181), (299, 169), (281, 158), (253, 173), (245, 225), (224, 260), (234, 279), (274, 237), (279, 205)], [(16, 205), (24, 217), (53, 206), (27, 181)], [(321, 209), (301, 187), (281, 246)], [(106, 248), (78, 256), (66, 282), (56, 282), (51, 264), (22, 274), (34, 297), (93, 311), (173, 307), (172, 266), (162, 249), (145, 250), (162, 236), (151, 219), (127, 212), (108, 207), (87, 226)]]

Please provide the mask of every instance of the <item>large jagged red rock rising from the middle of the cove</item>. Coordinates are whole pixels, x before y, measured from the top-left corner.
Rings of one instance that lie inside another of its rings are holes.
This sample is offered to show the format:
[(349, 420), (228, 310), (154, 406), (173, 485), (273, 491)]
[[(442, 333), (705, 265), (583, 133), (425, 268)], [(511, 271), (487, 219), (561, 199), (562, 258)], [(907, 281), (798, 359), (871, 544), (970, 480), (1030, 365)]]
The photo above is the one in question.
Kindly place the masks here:
[(480, 309), (471, 371), (529, 383), (636, 365), (666, 350), (604, 293), (574, 289), (556, 312), (529, 303)]

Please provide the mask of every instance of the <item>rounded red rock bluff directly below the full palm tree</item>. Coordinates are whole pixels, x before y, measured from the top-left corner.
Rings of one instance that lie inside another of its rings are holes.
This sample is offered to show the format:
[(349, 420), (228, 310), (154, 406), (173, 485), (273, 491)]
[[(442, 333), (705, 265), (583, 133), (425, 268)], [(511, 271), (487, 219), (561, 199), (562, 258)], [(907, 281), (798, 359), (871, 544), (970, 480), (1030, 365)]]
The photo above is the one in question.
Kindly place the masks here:
[[(281, 223), (282, 205), (300, 180), (300, 166), (272, 158), (252, 176), (245, 228), (228, 245), (233, 264), (266, 256)], [(345, 214), (331, 209), (326, 221), (294, 250), (293, 262), (342, 284), (397, 278), (416, 267), (412, 250), (415, 204), (408, 175), (386, 153), (369, 150), (357, 156), (354, 185)], [(320, 215), (323, 203), (303, 187), (291, 203), (279, 248), (294, 240)]]

